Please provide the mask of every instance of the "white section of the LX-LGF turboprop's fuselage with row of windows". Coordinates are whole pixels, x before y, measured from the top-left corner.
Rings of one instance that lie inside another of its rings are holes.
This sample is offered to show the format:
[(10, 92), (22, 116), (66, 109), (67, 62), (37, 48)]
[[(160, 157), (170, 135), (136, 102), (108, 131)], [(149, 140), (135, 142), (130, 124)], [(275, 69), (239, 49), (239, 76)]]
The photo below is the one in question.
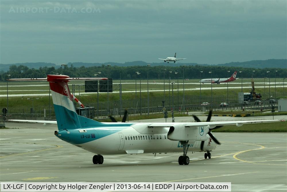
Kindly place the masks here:
[[(76, 146), (102, 155), (183, 152), (179, 141), (171, 141), (167, 138), (168, 128), (164, 131), (166, 133), (159, 133), (152, 129), (150, 133), (140, 133), (130, 126), (117, 133)], [(87, 133), (89, 133), (89, 130), (87, 130)], [(208, 140), (204, 143), (203, 150), (212, 151), (216, 148), (216, 143), (208, 135), (207, 137)], [(189, 141), (188, 151), (201, 151), (200, 143), (201, 141)]]

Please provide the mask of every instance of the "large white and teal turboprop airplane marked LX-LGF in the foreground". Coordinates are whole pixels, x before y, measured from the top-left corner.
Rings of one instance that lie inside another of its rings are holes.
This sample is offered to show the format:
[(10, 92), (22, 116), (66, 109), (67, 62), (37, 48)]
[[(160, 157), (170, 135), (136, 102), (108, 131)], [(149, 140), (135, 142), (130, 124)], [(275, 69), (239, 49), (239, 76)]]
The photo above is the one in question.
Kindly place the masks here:
[[(21, 79), (9, 79), (21, 80)], [(29, 79), (22, 79), (29, 80)], [(35, 80), (35, 79), (33, 79)], [(179, 156), (180, 165), (188, 165), (188, 151), (205, 152), (204, 158), (211, 158), (211, 151), (220, 145), (212, 130), (224, 125), (280, 122), (285, 120), (221, 121), (210, 122), (212, 111), (206, 122), (193, 116), (196, 122), (185, 123), (125, 123), (127, 111), (122, 122), (102, 123), (76, 113), (68, 87), (71, 80), (106, 80), (106, 78), (69, 78), (65, 75), (48, 75), (55, 109), (56, 121), (14, 120), (18, 122), (57, 123), (54, 134), (59, 139), (90, 151), (94, 164), (102, 164), (102, 155), (183, 152)], [(13, 120), (10, 120), (13, 121)]]

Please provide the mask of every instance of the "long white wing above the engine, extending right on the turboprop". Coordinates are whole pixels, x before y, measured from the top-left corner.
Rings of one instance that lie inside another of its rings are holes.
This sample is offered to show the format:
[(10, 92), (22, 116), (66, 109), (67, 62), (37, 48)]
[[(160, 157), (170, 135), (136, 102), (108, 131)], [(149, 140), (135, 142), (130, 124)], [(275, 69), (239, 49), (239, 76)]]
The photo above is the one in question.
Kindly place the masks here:
[(280, 122), (285, 120), (255, 120), (255, 121), (214, 121), (214, 122), (192, 122), (192, 123), (152, 123), (148, 125), (148, 128), (152, 127), (170, 127), (174, 125), (183, 125), (185, 127), (204, 127), (207, 126), (210, 129), (215, 128), (216, 126), (224, 125), (236, 125), (242, 126), (243, 124), (255, 124), (255, 123), (273, 123)]

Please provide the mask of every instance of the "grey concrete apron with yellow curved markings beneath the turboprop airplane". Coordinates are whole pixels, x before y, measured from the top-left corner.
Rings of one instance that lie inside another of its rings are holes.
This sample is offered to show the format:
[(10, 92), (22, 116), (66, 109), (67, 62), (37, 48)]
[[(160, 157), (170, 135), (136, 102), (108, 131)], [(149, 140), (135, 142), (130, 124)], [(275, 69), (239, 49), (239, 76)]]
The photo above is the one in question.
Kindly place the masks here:
[(215, 133), (211, 159), (188, 153), (93, 154), (54, 136), (55, 125), (7, 123), (1, 129), (1, 182), (231, 182), (232, 191), (286, 191), (286, 133)]

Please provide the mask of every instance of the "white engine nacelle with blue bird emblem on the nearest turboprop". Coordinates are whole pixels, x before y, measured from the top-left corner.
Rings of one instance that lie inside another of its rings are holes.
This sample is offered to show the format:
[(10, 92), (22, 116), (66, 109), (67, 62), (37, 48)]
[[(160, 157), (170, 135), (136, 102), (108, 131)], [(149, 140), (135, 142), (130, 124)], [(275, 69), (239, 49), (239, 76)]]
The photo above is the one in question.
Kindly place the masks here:
[(170, 127), (167, 138), (172, 141), (206, 141), (207, 127), (185, 127), (182, 124)]

